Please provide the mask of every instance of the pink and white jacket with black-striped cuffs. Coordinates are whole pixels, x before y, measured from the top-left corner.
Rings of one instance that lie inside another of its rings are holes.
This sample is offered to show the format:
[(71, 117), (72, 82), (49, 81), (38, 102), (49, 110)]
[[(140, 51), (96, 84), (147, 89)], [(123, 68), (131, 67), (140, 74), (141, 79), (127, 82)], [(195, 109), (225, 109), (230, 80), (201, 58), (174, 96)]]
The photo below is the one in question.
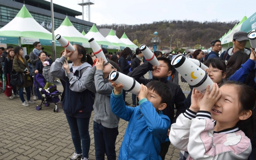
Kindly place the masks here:
[(188, 151), (187, 160), (247, 160), (248, 137), (238, 127), (214, 132), (211, 113), (187, 109), (172, 124), (169, 139), (174, 147)]

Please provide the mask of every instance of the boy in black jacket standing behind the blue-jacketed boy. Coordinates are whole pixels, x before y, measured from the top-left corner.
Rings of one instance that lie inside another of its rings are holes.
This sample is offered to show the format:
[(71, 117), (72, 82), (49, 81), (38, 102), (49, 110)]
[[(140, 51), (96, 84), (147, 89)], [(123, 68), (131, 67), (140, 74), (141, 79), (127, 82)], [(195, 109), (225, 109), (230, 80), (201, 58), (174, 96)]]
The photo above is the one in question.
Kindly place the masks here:
[[(160, 63), (159, 67), (153, 67), (150, 63), (146, 62), (132, 72), (128, 74), (128, 76), (133, 77), (139, 83), (146, 85), (152, 80), (160, 80), (161, 82), (167, 84), (167, 86), (171, 89), (173, 93), (172, 101), (170, 106), (166, 107), (162, 110), (164, 115), (167, 115), (171, 120), (171, 124), (176, 122), (177, 117), (186, 111), (184, 106), (184, 100), (186, 99), (184, 93), (182, 92), (182, 88), (173, 82), (167, 80), (167, 77), (172, 73), (172, 65), (171, 60), (165, 57), (160, 57), (157, 59)], [(153, 79), (145, 79), (141, 78), (142, 75), (146, 74), (148, 71), (152, 71)], [(168, 97), (166, 97), (168, 98)], [(174, 117), (174, 107), (177, 109), (176, 115)], [(166, 135), (168, 137), (168, 135)], [(164, 160), (166, 153), (168, 152), (168, 147), (170, 145), (170, 141), (167, 140), (166, 142), (161, 144), (161, 153), (160, 156), (162, 160)]]

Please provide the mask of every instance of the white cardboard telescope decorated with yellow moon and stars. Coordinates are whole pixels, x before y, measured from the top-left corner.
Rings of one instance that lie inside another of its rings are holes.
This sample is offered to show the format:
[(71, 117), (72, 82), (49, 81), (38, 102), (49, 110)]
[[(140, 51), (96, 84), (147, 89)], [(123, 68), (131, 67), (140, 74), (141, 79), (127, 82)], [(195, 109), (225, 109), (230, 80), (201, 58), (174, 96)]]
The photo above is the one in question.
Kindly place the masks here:
[(182, 54), (176, 55), (171, 64), (197, 91), (204, 94), (208, 85), (210, 85), (210, 91), (212, 90), (213, 81), (207, 73)]

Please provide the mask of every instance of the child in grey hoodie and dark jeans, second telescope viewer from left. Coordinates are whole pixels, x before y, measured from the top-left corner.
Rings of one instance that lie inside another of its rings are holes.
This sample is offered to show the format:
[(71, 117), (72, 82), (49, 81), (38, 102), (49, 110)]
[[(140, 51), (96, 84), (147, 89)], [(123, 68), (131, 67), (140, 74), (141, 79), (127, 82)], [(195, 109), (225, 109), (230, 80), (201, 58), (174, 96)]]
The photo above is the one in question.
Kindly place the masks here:
[(94, 146), (96, 160), (104, 160), (105, 153), (108, 160), (116, 160), (115, 140), (118, 135), (119, 117), (111, 111), (110, 95), (114, 87), (108, 81), (111, 71), (120, 68), (114, 61), (104, 65), (102, 58), (89, 71), (83, 85), (96, 93), (94, 101)]

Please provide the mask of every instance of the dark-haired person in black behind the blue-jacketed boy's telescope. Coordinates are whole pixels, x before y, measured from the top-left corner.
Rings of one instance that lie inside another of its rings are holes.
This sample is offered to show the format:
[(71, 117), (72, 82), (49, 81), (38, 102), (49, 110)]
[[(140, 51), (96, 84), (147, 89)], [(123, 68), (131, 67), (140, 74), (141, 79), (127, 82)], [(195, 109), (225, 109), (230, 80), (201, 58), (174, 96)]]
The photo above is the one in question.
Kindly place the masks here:
[[(127, 57), (132, 53), (132, 50), (129, 47), (124, 48), (124, 50), (120, 54), (120, 58), (118, 61), (119, 67), (122, 70), (122, 73), (127, 75), (129, 73), (129, 68), (131, 67), (130, 64), (128, 64)], [(123, 90), (123, 100), (125, 101), (125, 93), (126, 91)], [(125, 101), (126, 105), (130, 105)]]

